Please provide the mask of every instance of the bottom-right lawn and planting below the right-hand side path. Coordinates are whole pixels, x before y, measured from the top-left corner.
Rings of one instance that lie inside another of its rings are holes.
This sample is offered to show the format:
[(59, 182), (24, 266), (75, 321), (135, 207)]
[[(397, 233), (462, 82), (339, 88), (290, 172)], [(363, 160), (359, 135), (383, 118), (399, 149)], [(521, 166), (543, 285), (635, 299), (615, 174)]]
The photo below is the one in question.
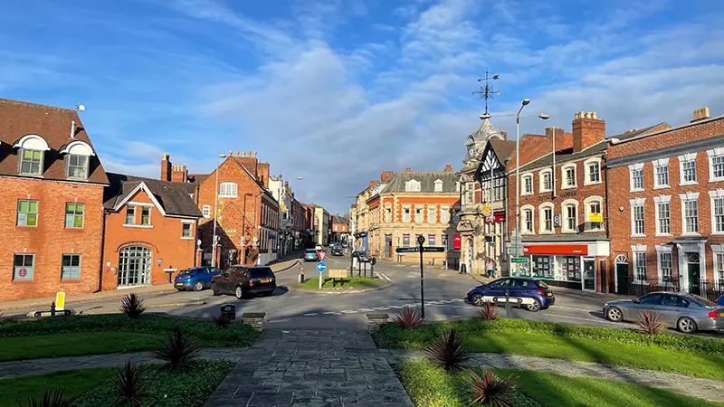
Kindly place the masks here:
[[(478, 374), (481, 369), (475, 368)], [(405, 390), (418, 406), (465, 406), (472, 401), (467, 372), (448, 374), (425, 361), (405, 360), (398, 374)], [(558, 374), (497, 369), (496, 374), (518, 376), (518, 391), (512, 405), (600, 406), (600, 407), (707, 407), (715, 402), (683, 396), (660, 389), (601, 379), (567, 377)]]

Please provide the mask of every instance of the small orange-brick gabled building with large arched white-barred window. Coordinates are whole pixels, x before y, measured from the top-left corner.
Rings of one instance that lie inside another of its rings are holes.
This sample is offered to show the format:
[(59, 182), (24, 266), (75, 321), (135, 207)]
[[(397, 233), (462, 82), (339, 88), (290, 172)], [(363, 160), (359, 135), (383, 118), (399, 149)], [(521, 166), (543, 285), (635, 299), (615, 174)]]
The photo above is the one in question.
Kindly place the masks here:
[(104, 207), (102, 288), (169, 282), (200, 264), (194, 185), (108, 174)]

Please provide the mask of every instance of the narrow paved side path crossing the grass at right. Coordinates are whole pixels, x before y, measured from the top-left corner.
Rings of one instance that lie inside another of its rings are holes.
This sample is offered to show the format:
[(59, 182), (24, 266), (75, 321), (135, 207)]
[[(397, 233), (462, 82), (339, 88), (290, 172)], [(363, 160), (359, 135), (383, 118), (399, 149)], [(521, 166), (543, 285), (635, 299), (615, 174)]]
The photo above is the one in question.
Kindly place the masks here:
[[(427, 358), (427, 355), (421, 351), (380, 349), (379, 352), (386, 356), (390, 364), (395, 364), (399, 358)], [(724, 382), (714, 379), (700, 379), (683, 374), (524, 355), (472, 354), (469, 364), (480, 365), (482, 367), (530, 370), (534, 372), (561, 374), (564, 376), (618, 380), (669, 390), (674, 393), (698, 397), (711, 402), (724, 402), (724, 393), (721, 392), (721, 387), (724, 385)]]

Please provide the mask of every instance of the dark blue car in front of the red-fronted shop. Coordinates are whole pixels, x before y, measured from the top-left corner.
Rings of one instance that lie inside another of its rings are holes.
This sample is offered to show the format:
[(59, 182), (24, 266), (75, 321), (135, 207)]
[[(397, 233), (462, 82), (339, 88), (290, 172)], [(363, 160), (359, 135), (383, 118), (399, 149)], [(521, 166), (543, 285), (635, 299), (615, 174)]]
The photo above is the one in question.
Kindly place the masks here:
[(506, 291), (508, 291), (512, 305), (526, 308), (532, 312), (548, 308), (556, 303), (556, 297), (544, 281), (524, 277), (506, 277), (473, 287), (468, 292), (466, 299), (479, 307), (487, 301), (505, 305)]

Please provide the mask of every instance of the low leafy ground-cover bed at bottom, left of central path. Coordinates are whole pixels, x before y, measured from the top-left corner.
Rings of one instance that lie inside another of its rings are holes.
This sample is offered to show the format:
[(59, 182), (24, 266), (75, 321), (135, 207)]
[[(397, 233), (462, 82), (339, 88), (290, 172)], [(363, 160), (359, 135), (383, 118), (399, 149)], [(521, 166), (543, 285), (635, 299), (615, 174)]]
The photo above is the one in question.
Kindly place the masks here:
[[(204, 405), (219, 383), (233, 368), (233, 362), (226, 360), (201, 361), (191, 372), (173, 374), (157, 366), (147, 364), (143, 373), (147, 387), (143, 394), (143, 406), (154, 407), (195, 407)], [(110, 381), (78, 397), (71, 407), (98, 407), (116, 405), (117, 393)]]

